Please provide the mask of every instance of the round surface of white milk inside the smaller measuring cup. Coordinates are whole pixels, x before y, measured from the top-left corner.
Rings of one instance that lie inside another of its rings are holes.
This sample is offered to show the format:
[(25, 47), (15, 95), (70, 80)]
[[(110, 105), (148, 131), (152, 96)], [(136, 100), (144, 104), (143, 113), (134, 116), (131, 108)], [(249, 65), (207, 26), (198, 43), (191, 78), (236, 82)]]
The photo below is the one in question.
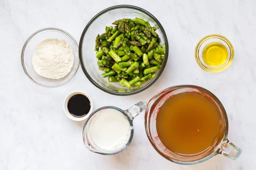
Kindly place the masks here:
[(90, 136), (99, 148), (118, 151), (130, 139), (131, 126), (118, 110), (104, 109), (95, 114), (91, 121)]

